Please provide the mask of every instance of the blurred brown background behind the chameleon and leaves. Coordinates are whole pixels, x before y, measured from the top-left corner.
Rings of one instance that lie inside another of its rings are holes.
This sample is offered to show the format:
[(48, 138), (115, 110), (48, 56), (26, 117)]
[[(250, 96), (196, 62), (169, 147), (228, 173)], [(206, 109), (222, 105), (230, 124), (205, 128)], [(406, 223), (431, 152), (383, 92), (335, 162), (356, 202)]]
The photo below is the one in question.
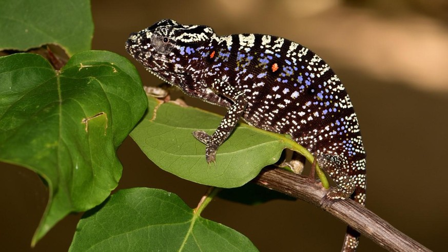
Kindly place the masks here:
[[(92, 5), (93, 49), (129, 59), (124, 50), (128, 34), (162, 18), (209, 25), (222, 35), (278, 35), (311, 48), (339, 75), (355, 105), (367, 150), (368, 208), (426, 247), (444, 250), (448, 230), (446, 1), (97, 0)], [(145, 85), (160, 83), (132, 62)], [(192, 99), (187, 103), (216, 109)], [(124, 166), (119, 188), (163, 188), (191, 207), (206, 190), (155, 167), (131, 139), (120, 147), (119, 156)], [(0, 166), (2, 250), (67, 250), (81, 214), (61, 221), (30, 249), (47, 190), (25, 168)], [(203, 216), (242, 232), (262, 251), (339, 251), (345, 231), (343, 223), (301, 201), (249, 207), (216, 199)], [(361, 238), (359, 251), (381, 249)]]

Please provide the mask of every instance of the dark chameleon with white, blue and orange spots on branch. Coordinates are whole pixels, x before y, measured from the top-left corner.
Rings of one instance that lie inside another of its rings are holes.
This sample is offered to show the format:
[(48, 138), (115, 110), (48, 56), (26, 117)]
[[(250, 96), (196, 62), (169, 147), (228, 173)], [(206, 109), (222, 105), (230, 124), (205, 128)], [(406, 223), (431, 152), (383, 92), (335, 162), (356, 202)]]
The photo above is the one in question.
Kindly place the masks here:
[[(240, 118), (289, 134), (335, 182), (322, 205), (352, 198), (365, 204), (366, 160), (357, 115), (334, 71), (308, 48), (263, 34), (218, 36), (211, 27), (161, 20), (131, 33), (127, 52), (185, 94), (228, 108), (216, 131), (194, 131), (208, 163)], [(314, 175), (313, 175), (314, 176)], [(343, 251), (359, 233), (347, 228)]]

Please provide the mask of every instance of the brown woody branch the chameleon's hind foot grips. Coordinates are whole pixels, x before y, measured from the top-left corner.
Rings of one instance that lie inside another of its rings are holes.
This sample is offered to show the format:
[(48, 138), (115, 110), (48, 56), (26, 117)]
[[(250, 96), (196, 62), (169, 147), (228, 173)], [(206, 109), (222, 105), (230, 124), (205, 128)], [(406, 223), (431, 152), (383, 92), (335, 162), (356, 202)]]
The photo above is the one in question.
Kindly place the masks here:
[[(319, 208), (326, 193), (320, 184), (307, 183), (304, 176), (272, 166), (264, 168), (252, 182)], [(324, 210), (389, 251), (431, 251), (353, 200), (336, 202)]]

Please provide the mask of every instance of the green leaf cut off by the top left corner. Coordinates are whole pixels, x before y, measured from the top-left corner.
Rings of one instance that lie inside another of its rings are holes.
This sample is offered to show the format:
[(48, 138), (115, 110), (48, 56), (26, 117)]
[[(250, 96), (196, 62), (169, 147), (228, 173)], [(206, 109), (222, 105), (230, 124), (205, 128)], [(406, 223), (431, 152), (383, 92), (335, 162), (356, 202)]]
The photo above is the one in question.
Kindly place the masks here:
[(4, 0), (0, 50), (26, 51), (57, 44), (71, 56), (90, 50), (93, 21), (89, 0)]

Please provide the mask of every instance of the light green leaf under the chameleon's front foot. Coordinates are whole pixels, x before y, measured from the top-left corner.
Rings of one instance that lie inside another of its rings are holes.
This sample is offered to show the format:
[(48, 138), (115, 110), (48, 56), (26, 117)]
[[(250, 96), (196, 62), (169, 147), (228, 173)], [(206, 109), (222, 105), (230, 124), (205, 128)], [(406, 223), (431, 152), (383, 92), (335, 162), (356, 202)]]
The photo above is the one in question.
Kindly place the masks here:
[(148, 112), (130, 136), (156, 165), (181, 178), (238, 187), (255, 178), (263, 167), (274, 164), (284, 148), (298, 151), (313, 162), (313, 156), (287, 136), (241, 123), (218, 149), (216, 165), (208, 165), (205, 145), (194, 139), (192, 132), (213, 133), (222, 116), (170, 102), (160, 105), (152, 119), (159, 102), (148, 99)]

